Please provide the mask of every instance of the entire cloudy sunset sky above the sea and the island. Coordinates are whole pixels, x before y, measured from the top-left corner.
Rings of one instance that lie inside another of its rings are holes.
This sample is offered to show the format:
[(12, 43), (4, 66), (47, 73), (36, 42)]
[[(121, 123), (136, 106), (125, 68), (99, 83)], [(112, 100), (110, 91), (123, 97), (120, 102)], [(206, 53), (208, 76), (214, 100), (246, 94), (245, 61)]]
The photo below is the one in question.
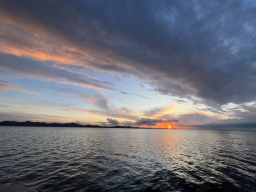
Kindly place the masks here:
[(256, 1), (0, 1), (0, 121), (256, 127)]

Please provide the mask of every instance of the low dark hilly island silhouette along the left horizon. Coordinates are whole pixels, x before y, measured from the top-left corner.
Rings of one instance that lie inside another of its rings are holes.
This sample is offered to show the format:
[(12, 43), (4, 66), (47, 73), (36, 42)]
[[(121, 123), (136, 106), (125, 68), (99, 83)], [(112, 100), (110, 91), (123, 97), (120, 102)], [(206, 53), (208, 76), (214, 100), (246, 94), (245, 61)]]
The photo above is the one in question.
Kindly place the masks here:
[(18, 121), (1, 121), (0, 126), (17, 126), (17, 127), (96, 127), (96, 128), (140, 128), (131, 126), (100, 126), (100, 125), (81, 125), (78, 123), (45, 123), (45, 122), (18, 122)]

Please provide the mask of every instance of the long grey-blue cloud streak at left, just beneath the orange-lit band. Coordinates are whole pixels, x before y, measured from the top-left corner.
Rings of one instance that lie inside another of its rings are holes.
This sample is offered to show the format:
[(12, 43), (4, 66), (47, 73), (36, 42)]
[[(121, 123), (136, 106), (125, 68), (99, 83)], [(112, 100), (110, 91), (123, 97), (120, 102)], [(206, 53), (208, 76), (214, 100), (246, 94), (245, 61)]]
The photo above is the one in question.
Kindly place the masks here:
[(113, 91), (110, 82), (101, 79), (95, 79), (89, 75), (74, 73), (59, 67), (54, 67), (50, 63), (38, 63), (31, 59), (15, 57), (11, 55), (0, 54), (0, 73), (10, 74), (19, 77), (27, 75), (28, 77), (43, 79), (45, 81), (55, 81), (61, 84), (70, 84), (84, 88), (96, 90)]

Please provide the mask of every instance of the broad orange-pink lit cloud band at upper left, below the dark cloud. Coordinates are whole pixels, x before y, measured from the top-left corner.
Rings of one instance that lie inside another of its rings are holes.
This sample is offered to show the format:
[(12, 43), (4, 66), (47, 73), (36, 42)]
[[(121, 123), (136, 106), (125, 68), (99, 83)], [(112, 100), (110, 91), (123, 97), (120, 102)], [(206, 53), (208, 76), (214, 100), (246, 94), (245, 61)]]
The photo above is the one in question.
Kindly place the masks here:
[[(20, 18), (1, 8), (0, 11), (0, 53), (38, 61), (79, 65), (95, 71), (136, 73), (134, 69), (125, 67), (114, 59), (113, 53), (108, 49), (93, 44), (90, 38), (79, 40), (75, 36), (65, 36), (33, 18)], [(90, 30), (86, 31), (86, 34), (90, 33)]]

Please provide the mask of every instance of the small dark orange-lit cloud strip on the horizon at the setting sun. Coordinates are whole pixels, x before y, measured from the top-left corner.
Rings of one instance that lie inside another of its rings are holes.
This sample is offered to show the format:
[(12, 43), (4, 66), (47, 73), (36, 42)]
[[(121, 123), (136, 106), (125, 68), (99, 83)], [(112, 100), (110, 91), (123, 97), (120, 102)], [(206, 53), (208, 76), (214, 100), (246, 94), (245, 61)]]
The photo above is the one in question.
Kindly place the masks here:
[(172, 122), (176, 122), (177, 123), (177, 122), (179, 122), (179, 120), (177, 120), (177, 119), (149, 119), (149, 118), (141, 118), (141, 119), (138, 119), (135, 122), (131, 122), (131, 121), (123, 122), (123, 125), (154, 126), (154, 125), (157, 125), (158, 123), (172, 123)]

